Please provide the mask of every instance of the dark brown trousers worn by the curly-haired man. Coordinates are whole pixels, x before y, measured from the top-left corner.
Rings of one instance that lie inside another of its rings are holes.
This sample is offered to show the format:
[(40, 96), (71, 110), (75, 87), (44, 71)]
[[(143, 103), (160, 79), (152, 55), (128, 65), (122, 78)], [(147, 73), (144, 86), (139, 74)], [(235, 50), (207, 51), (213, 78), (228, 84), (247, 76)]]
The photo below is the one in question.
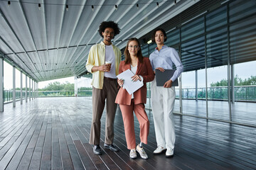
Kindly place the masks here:
[(107, 113), (105, 125), (105, 143), (111, 145), (114, 140), (114, 116), (117, 104), (114, 100), (117, 96), (117, 79), (104, 77), (103, 88), (92, 88), (92, 125), (90, 131), (90, 144), (100, 145), (100, 119), (105, 108), (107, 98)]

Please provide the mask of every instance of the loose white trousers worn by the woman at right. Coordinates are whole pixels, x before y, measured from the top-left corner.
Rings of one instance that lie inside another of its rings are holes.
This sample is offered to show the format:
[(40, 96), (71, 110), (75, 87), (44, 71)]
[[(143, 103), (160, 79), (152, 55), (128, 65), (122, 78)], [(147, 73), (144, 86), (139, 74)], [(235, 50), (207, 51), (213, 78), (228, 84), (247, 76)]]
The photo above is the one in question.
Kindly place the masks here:
[(151, 106), (154, 116), (157, 146), (174, 149), (174, 101), (175, 88), (156, 86), (156, 79), (151, 82)]

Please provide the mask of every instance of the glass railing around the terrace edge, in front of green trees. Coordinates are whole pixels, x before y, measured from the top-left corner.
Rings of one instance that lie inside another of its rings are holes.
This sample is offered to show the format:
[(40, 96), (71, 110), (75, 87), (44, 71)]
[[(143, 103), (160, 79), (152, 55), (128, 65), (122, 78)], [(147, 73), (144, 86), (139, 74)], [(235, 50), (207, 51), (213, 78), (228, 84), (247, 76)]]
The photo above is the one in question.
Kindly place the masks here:
[[(179, 89), (176, 90), (176, 98), (179, 98)], [(235, 86), (235, 101), (256, 101), (256, 86)], [(23, 91), (23, 98), (25, 98), (26, 91)], [(146, 97), (150, 98), (150, 89), (147, 90)], [(75, 96), (75, 91), (38, 91), (31, 96), (38, 97), (67, 97)], [(78, 96), (92, 96), (92, 90), (78, 91)], [(29, 91), (28, 91), (29, 97)], [(16, 100), (21, 98), (21, 91), (16, 91)], [(182, 89), (183, 99), (196, 99), (196, 88)], [(198, 88), (198, 99), (206, 99), (206, 88)], [(228, 100), (228, 87), (208, 87), (209, 100)], [(4, 91), (4, 102), (12, 101), (13, 94), (11, 90)]]

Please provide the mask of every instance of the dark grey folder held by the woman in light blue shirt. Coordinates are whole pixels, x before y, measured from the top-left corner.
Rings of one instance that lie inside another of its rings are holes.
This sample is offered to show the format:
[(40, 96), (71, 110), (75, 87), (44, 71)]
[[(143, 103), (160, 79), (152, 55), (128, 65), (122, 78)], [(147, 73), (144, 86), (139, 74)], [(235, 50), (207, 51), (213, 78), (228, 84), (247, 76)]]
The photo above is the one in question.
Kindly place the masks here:
[[(164, 86), (165, 82), (171, 79), (175, 71), (176, 69), (164, 69), (164, 72), (161, 72), (159, 69), (156, 69), (156, 86)], [(172, 82), (171, 86), (178, 86), (178, 79)]]

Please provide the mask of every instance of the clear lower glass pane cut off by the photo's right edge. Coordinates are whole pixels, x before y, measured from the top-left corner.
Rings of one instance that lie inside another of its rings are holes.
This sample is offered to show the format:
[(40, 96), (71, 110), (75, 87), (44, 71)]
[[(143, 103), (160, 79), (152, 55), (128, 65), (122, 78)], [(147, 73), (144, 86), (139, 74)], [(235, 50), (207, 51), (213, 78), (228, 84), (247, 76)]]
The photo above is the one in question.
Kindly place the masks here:
[[(256, 125), (256, 61), (234, 65), (235, 103), (232, 120)], [(246, 101), (246, 102), (244, 102)]]

